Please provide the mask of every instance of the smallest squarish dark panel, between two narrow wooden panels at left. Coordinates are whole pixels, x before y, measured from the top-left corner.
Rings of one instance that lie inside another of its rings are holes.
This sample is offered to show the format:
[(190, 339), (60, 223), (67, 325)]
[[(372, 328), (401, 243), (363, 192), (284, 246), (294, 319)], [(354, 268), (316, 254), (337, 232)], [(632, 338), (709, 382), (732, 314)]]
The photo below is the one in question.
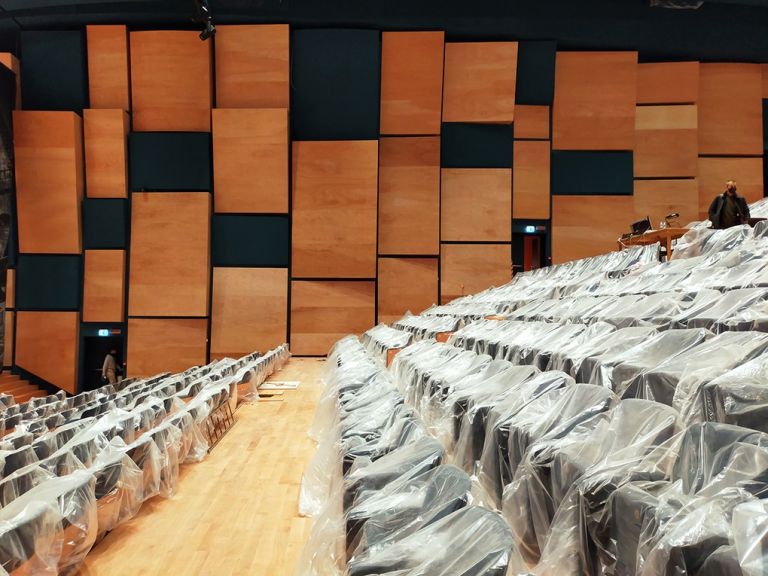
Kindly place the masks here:
[(86, 250), (128, 245), (128, 201), (122, 198), (83, 200), (83, 246)]

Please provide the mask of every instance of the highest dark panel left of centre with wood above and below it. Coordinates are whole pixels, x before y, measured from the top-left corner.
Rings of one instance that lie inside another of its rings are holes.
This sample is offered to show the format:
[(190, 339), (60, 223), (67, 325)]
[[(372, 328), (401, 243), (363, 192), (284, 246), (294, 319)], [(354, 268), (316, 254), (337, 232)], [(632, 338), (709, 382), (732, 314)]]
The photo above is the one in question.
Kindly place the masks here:
[(208, 132), (132, 132), (128, 146), (134, 192), (211, 189)]

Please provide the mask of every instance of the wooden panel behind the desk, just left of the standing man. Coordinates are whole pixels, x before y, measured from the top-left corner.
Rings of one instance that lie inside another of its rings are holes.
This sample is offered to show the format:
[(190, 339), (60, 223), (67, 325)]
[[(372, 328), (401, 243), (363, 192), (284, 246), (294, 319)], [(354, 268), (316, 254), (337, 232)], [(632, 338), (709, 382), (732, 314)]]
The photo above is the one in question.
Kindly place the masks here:
[(636, 180), (633, 198), (634, 220), (648, 216), (654, 228), (673, 212), (680, 214), (682, 226), (699, 219), (699, 183), (695, 178)]

